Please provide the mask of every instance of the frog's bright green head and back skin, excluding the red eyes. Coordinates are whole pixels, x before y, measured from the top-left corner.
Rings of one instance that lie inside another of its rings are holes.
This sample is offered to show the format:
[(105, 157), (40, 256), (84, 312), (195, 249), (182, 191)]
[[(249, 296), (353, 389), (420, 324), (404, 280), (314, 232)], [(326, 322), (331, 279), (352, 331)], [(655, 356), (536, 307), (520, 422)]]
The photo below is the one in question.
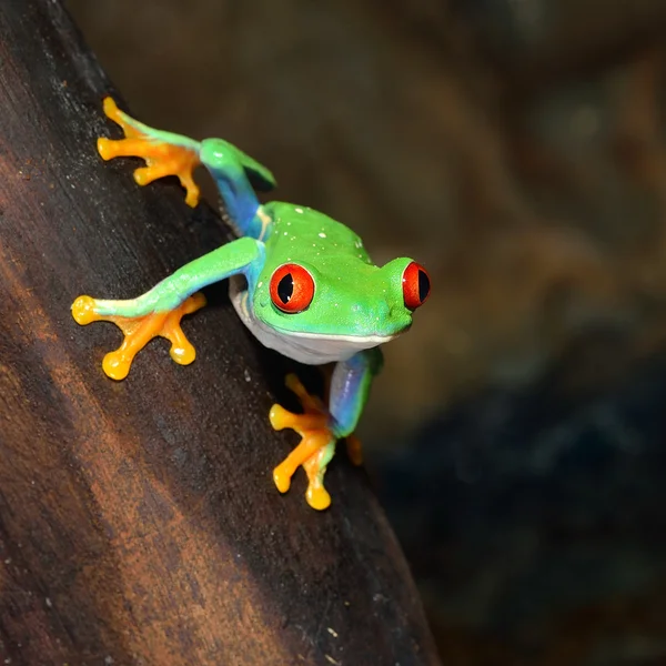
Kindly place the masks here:
[[(361, 239), (347, 226), (312, 209), (272, 202), (265, 262), (253, 293), (254, 314), (284, 335), (387, 337), (412, 323), (403, 302), (402, 273), (411, 262), (395, 260), (380, 269)], [(299, 314), (278, 310), (269, 293), (271, 275), (284, 263), (297, 263), (314, 278), (310, 307)]]

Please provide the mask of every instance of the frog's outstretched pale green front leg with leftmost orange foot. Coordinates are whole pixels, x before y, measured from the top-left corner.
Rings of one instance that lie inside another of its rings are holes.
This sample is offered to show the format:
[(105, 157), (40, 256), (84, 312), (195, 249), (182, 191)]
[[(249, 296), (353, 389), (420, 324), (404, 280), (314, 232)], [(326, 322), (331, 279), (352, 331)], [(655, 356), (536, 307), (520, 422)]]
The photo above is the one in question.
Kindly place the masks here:
[(158, 335), (171, 342), (171, 357), (186, 365), (194, 361), (195, 352), (180, 321), (205, 304), (203, 294), (195, 292), (236, 273), (244, 273), (248, 282), (253, 283), (263, 256), (263, 243), (239, 239), (185, 264), (138, 299), (107, 301), (79, 296), (72, 304), (72, 316), (81, 325), (113, 322), (123, 332), (120, 347), (108, 353), (102, 362), (104, 373), (113, 380), (123, 380), (137, 353)]

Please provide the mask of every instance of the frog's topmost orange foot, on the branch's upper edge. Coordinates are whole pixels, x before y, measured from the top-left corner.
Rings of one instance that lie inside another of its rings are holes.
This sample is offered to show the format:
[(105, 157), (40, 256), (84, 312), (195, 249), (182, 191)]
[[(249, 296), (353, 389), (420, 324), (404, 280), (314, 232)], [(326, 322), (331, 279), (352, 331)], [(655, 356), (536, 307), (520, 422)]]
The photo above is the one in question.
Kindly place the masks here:
[(149, 128), (123, 113), (110, 97), (104, 98), (104, 113), (124, 131), (124, 139), (98, 139), (98, 151), (103, 160), (135, 157), (147, 167), (134, 171), (134, 180), (147, 185), (167, 175), (179, 178), (185, 188), (185, 203), (194, 208), (199, 202), (199, 186), (192, 172), (200, 163), (199, 143), (186, 137)]

